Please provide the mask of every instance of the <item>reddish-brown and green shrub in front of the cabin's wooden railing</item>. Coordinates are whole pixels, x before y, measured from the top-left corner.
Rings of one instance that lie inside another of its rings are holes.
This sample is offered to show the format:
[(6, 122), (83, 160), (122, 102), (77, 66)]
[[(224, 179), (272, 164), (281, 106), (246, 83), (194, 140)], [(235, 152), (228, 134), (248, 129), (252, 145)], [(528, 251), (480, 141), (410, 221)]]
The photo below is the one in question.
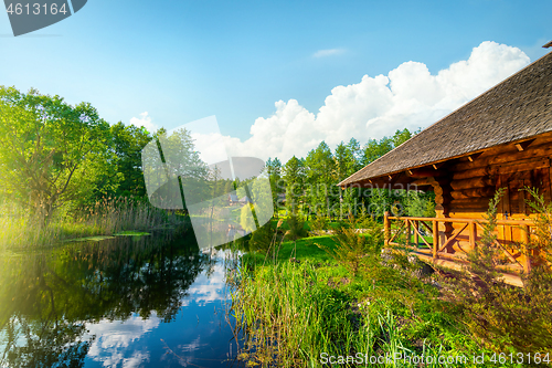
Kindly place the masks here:
[[(541, 263), (523, 277), (523, 288), (507, 285), (499, 272), (501, 250), (495, 243), (497, 204), (503, 191), (499, 190), (487, 212), (489, 221), (481, 241), (469, 253), (467, 271), (443, 280), (445, 296), (464, 311), (464, 322), (480, 341), (496, 351), (543, 353), (552, 349), (552, 274), (549, 264)], [(548, 232), (549, 209), (537, 200), (539, 210), (537, 234), (530, 244), (519, 244), (519, 251), (533, 246), (550, 254)], [(541, 201), (542, 200), (542, 201)], [(531, 206), (531, 204), (530, 204)], [(544, 219), (546, 221), (544, 221)], [(543, 239), (544, 236), (544, 239)]]

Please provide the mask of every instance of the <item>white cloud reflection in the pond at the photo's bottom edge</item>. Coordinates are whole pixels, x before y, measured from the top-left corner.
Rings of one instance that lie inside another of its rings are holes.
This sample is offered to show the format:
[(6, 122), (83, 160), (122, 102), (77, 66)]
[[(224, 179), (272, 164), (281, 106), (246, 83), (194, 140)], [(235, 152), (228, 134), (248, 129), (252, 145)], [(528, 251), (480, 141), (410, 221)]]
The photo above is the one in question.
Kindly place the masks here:
[(88, 358), (102, 361), (104, 367), (114, 367), (121, 364), (125, 368), (138, 367), (140, 362), (149, 360), (148, 351), (134, 351), (130, 358), (124, 357), (124, 349), (130, 343), (139, 339), (152, 330), (160, 318), (155, 313), (144, 320), (140, 316), (132, 316), (124, 322), (100, 320), (88, 325), (88, 335), (96, 335), (88, 350)]

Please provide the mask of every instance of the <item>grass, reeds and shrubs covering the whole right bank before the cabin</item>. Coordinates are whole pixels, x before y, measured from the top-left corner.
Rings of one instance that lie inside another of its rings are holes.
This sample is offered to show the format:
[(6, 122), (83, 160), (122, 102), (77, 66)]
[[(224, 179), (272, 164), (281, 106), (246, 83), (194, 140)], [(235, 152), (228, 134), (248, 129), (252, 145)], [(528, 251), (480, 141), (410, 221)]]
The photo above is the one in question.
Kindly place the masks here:
[[(371, 357), (401, 356), (375, 365), (524, 367), (531, 356), (550, 366), (552, 207), (526, 190), (538, 228), (518, 246), (538, 249), (541, 259), (523, 275), (522, 288), (506, 284), (499, 272), (500, 191), (463, 272), (434, 272), (404, 249), (382, 251), (381, 225), (371, 217), (350, 217), (332, 234), (299, 240), (285, 239), (284, 219), (274, 222), (270, 244), (244, 255), (231, 280), (236, 328), (245, 336), (241, 359), (250, 366), (319, 367), (331, 366), (332, 357), (352, 367), (371, 366)], [(481, 356), (484, 361), (474, 361)], [(408, 360), (414, 357), (415, 364)]]

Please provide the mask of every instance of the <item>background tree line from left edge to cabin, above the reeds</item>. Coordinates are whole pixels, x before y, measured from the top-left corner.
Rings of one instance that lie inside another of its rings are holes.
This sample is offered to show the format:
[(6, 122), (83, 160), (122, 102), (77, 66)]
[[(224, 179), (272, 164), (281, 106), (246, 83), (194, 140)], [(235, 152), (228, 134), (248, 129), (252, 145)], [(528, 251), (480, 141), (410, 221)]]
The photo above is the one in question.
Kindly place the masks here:
[[(110, 125), (89, 103), (70, 105), (57, 95), (0, 86), (0, 200), (18, 202), (44, 219), (60, 210), (81, 211), (106, 198), (147, 201), (141, 151), (166, 133), (121, 122)], [(285, 164), (268, 159), (265, 168), (275, 208), (333, 217), (363, 207), (381, 215), (399, 203), (406, 214), (431, 215), (431, 194), (336, 186), (414, 134), (405, 128), (364, 146), (351, 138), (335, 150), (321, 141), (305, 158), (294, 156)], [(177, 136), (178, 143), (168, 141), (198, 161), (190, 134)], [(206, 165), (198, 167), (202, 180), (213, 186), (208, 191), (217, 196), (243, 185), (211, 180)]]

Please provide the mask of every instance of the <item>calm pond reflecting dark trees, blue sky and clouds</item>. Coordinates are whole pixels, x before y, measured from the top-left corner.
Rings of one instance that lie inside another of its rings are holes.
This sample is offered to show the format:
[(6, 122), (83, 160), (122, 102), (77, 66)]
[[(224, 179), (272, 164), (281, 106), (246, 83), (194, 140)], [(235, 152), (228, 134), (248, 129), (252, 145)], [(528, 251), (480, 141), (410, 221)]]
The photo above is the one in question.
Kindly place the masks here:
[(0, 254), (0, 367), (237, 367), (234, 262), (193, 234)]

